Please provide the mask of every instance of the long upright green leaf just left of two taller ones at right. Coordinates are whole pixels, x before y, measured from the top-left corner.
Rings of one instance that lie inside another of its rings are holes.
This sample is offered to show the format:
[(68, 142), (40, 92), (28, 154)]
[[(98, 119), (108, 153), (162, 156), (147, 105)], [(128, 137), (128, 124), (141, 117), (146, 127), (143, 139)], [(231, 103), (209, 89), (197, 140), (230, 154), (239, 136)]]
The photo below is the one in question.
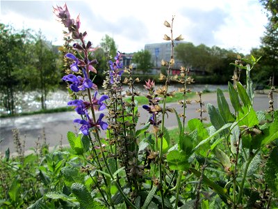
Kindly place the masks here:
[(225, 123), (234, 122), (235, 118), (231, 114), (231, 111), (229, 109), (229, 104), (225, 99), (224, 94), (220, 88), (218, 88), (217, 90), (217, 101), (218, 101), (218, 109), (222, 118), (224, 119), (224, 122)]

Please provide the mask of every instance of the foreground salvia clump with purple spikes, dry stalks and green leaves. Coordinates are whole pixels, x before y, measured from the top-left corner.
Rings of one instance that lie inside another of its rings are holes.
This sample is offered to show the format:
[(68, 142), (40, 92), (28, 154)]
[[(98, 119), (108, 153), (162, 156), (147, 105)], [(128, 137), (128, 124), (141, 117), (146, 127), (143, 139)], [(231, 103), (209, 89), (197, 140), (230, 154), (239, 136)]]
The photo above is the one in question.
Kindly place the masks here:
[[(167, 75), (160, 75), (165, 83), (156, 88), (153, 80), (145, 82), (148, 104), (142, 105), (142, 113), (148, 118), (140, 125), (141, 107), (136, 101), (140, 93), (134, 86), (140, 80), (133, 77), (132, 66), (123, 68), (120, 52), (113, 54), (114, 60), (108, 60), (104, 70), (104, 93), (98, 96), (100, 91), (90, 79), (97, 73), (97, 60), (90, 58), (96, 48), (92, 42), (85, 42), (87, 33), (79, 31), (79, 16), (75, 21), (71, 19), (66, 5), (57, 6), (54, 13), (67, 28), (67, 36), (74, 40), (65, 53), (70, 70), (66, 70), (63, 81), (72, 95), (68, 105), (80, 115), (74, 123), (81, 127), (78, 136), (72, 132), (67, 136), (79, 162), (69, 162), (61, 169), (66, 182), (63, 193), (50, 192), (47, 197), (77, 203), (81, 208), (252, 208), (258, 206), (257, 200), (271, 200), (268, 187), (262, 188), (258, 183), (262, 179), (250, 169), (251, 164), (259, 168), (256, 160), (261, 159), (261, 153), (270, 157), (263, 163), (275, 162), (272, 155), (277, 151), (274, 141), (278, 139), (278, 111), (272, 108), (268, 120), (267, 114), (257, 114), (252, 107), (254, 92), (249, 75), (259, 59), (252, 56), (252, 61), (245, 59), (246, 66), (234, 64), (248, 72), (247, 89), (238, 80), (234, 85), (229, 83), (234, 113), (218, 89), (218, 108), (208, 104), (210, 123), (203, 123), (206, 109), (202, 92), (197, 92), (200, 117), (186, 123), (186, 107), (191, 104), (188, 84), (194, 80), (184, 67), (180, 75), (171, 75), (174, 40), (183, 40), (181, 35), (173, 38), (172, 17), (171, 24), (164, 22), (170, 29), (164, 39), (171, 41), (172, 50), (169, 60), (161, 61), (167, 67)], [(69, 42), (67, 39), (67, 46)], [(175, 96), (168, 89), (170, 82), (182, 85), (178, 91), (183, 96), (179, 101), (181, 113), (166, 105), (167, 98)], [(128, 90), (124, 91), (122, 85), (127, 85)], [(97, 111), (102, 111), (99, 118)], [(170, 114), (178, 121), (174, 139), (165, 127)], [(275, 169), (266, 171), (263, 181), (270, 183), (270, 174), (278, 172)], [(270, 187), (277, 192), (277, 187)], [(261, 201), (259, 206), (266, 204)]]

